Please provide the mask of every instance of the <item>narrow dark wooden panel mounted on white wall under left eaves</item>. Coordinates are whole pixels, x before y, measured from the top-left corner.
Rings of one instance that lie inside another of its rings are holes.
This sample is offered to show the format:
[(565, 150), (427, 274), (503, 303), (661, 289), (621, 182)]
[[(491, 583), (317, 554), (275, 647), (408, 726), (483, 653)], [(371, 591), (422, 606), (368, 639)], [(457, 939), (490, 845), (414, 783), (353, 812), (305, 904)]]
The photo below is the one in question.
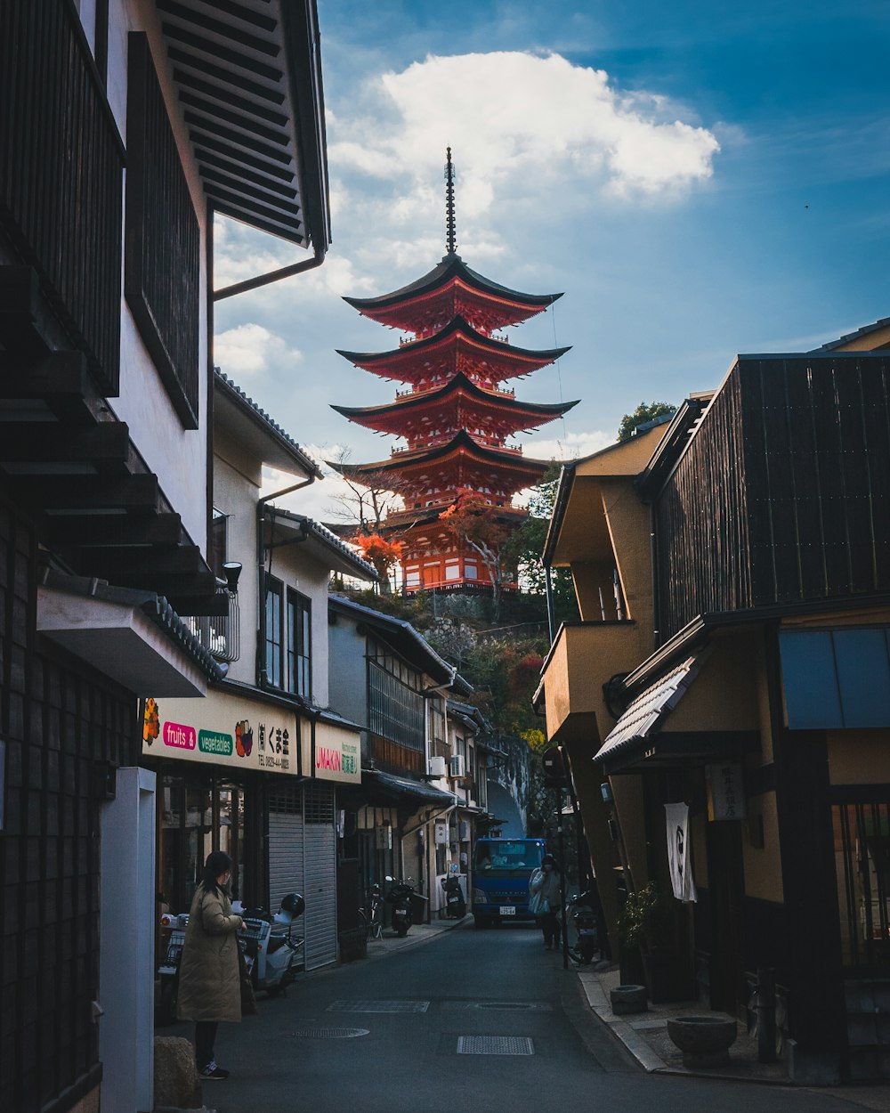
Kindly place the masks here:
[(197, 429), (200, 228), (140, 31), (129, 37), (123, 289), (182, 424)]

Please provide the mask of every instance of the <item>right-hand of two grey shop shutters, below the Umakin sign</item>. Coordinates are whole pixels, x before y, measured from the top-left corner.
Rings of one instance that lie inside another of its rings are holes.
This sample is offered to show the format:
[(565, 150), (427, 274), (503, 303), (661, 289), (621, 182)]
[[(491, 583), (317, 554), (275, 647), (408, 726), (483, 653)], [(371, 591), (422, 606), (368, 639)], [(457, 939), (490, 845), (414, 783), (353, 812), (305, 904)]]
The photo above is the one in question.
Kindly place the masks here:
[(306, 969), (337, 961), (337, 840), (334, 787), (305, 786)]

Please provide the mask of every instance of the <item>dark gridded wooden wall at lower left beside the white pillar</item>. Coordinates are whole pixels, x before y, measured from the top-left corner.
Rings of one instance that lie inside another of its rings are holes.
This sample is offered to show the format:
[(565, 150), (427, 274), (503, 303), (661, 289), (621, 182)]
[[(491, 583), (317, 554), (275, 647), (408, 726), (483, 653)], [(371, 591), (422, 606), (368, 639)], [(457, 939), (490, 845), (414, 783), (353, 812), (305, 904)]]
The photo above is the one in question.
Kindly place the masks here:
[(0, 506), (0, 1094), (37, 1113), (98, 1077), (99, 809), (135, 765), (131, 698), (34, 639), (33, 536)]

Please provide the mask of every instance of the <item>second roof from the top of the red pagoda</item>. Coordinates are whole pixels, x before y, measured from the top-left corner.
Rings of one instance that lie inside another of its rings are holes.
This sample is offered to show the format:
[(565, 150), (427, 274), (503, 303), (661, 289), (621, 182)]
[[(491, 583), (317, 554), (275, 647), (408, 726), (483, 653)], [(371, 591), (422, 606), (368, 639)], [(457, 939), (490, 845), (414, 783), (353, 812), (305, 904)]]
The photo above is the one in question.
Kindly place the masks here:
[(477, 332), (463, 317), (455, 317), (434, 336), (389, 352), (343, 352), (338, 348), (337, 354), (382, 378), (437, 386), (461, 372), (481, 384), (517, 378), (546, 367), (568, 351), (571, 345), (540, 352), (514, 347)]

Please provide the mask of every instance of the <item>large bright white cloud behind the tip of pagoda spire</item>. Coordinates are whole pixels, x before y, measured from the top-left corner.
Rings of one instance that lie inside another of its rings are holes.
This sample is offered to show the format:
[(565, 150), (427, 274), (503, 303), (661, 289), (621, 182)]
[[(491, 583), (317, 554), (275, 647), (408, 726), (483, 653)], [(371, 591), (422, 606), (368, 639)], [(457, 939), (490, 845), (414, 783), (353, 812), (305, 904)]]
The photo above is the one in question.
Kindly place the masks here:
[(665, 98), (622, 96), (603, 70), (555, 53), (429, 56), (382, 75), (364, 97), (364, 110), (336, 119), (332, 164), (411, 184), (394, 203), (400, 219), (441, 204), (431, 186), (448, 144), (467, 170), (459, 206), (471, 221), (495, 198), (537, 194), (542, 181), (599, 180), (623, 196), (674, 193), (709, 178), (720, 150), (711, 131), (672, 118)]

